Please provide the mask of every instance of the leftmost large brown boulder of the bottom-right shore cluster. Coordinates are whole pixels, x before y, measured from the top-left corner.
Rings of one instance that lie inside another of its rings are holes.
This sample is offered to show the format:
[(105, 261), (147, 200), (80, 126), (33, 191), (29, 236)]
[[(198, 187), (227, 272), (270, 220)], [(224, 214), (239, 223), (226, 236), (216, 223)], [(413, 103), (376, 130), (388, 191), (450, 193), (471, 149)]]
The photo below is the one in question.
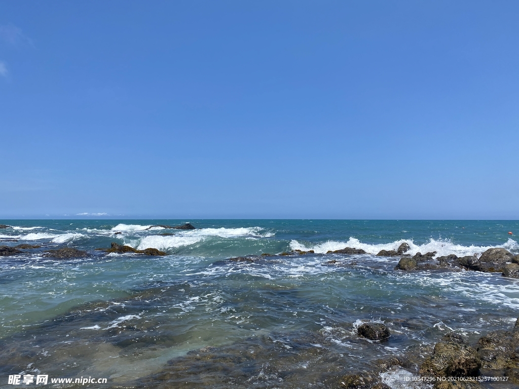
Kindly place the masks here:
[(433, 355), (420, 367), (426, 377), (476, 377), (481, 368), (481, 358), (476, 350), (466, 344), (439, 342)]

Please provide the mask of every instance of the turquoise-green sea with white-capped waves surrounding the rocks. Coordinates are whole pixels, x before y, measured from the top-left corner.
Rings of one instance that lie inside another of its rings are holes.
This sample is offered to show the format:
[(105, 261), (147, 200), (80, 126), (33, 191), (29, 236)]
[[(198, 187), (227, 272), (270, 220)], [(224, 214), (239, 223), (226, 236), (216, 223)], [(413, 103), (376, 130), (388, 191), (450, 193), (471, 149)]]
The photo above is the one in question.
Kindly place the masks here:
[[(398, 271), (400, 257), (376, 256), (404, 242), (411, 255), (519, 254), (517, 220), (0, 223), (0, 245), (40, 246), (0, 257), (0, 387), (18, 374), (48, 387), (332, 388), (359, 374), (426, 388), (412, 378), (445, 334), (473, 345), (519, 316), (517, 279)], [(196, 229), (163, 227), (185, 223)], [(167, 255), (97, 250), (112, 242)], [(62, 247), (87, 255), (46, 256)], [(345, 247), (366, 254), (330, 253)], [(390, 338), (359, 337), (367, 322)], [(408, 363), (381, 369), (390, 358)]]

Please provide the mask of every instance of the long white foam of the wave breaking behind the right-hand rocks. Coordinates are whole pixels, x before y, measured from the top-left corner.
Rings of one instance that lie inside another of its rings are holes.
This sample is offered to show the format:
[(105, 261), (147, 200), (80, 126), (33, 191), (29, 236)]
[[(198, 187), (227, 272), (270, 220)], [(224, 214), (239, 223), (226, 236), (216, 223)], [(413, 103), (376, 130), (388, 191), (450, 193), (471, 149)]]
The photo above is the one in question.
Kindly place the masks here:
[(418, 252), (425, 254), (428, 252), (435, 251), (436, 256), (456, 254), (458, 257), (466, 255), (481, 254), (492, 247), (503, 247), (509, 251), (519, 251), (519, 244), (516, 241), (509, 239), (506, 243), (501, 246), (463, 246), (460, 244), (454, 244), (448, 240), (435, 240), (430, 239), (429, 242), (421, 245), (416, 245), (412, 240), (399, 240), (386, 244), (367, 244), (362, 243), (356, 238), (350, 238), (347, 242), (338, 241), (326, 241), (315, 245), (307, 245), (296, 240), (290, 242), (290, 248), (293, 250), (309, 251), (313, 250), (316, 253), (326, 253), (328, 251), (335, 251), (345, 247), (361, 248), (368, 254), (377, 254), (380, 250), (396, 250), (402, 243), (407, 243), (411, 249), (407, 252), (408, 254), (414, 255)]

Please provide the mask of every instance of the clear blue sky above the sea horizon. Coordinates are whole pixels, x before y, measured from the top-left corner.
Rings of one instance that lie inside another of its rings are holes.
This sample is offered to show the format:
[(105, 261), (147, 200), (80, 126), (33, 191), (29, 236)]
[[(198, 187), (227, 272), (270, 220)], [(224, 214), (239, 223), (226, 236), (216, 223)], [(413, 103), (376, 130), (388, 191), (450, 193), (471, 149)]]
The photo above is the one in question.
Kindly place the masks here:
[(518, 20), (2, 1), (0, 218), (519, 219)]

